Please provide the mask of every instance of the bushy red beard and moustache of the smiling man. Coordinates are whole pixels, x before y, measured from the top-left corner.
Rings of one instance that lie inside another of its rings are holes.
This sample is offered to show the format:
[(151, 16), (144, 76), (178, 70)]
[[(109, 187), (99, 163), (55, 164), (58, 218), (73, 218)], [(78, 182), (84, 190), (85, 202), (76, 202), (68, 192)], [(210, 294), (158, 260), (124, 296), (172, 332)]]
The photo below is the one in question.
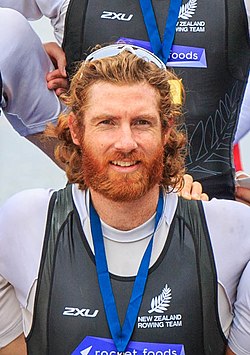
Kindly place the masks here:
[[(139, 161), (141, 168), (131, 173), (119, 173), (110, 168), (111, 161), (124, 159)], [(159, 184), (163, 173), (163, 147), (146, 157), (144, 153), (114, 153), (103, 160), (92, 148), (83, 147), (83, 179), (94, 191), (113, 201), (133, 201), (144, 196)]]

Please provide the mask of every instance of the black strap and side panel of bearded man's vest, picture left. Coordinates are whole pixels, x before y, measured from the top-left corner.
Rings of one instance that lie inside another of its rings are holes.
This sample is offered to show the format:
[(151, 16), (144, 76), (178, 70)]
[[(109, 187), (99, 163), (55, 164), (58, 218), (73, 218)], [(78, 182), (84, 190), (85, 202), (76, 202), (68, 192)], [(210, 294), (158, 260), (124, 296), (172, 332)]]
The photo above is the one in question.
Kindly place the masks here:
[[(63, 206), (63, 208), (62, 208)], [(50, 297), (44, 297), (49, 290), (52, 282), (54, 255), (57, 246), (57, 240), (60, 237), (60, 230), (67, 222), (70, 215), (73, 215), (74, 203), (72, 197), (72, 185), (55, 191), (50, 199), (47, 224), (45, 230), (45, 238), (43, 243), (42, 257), (38, 274), (36, 297), (34, 302), (34, 318), (31, 331), (26, 338), (28, 354), (38, 355), (37, 349), (39, 345), (39, 354), (48, 354), (48, 337), (47, 328), (44, 324), (48, 324), (48, 312), (44, 312), (49, 308)], [(36, 319), (39, 314), (39, 321)], [(34, 331), (36, 329), (36, 331)]]

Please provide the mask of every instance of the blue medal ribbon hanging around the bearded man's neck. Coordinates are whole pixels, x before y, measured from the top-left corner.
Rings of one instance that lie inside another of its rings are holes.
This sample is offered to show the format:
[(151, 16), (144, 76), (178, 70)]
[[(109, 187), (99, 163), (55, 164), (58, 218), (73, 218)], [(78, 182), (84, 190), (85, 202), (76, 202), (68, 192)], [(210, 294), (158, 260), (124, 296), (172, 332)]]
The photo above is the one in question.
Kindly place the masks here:
[(98, 214), (96, 213), (90, 201), (90, 224), (94, 243), (96, 270), (99, 281), (99, 287), (104, 303), (109, 330), (117, 348), (117, 351), (119, 352), (125, 351), (134, 330), (135, 322), (141, 306), (142, 296), (148, 277), (149, 262), (153, 246), (153, 237), (160, 217), (162, 215), (162, 210), (163, 194), (162, 192), (160, 192), (156, 210), (153, 236), (142, 258), (138, 274), (135, 278), (133, 291), (127, 308), (125, 320), (123, 326), (121, 327), (108, 272), (101, 222)]

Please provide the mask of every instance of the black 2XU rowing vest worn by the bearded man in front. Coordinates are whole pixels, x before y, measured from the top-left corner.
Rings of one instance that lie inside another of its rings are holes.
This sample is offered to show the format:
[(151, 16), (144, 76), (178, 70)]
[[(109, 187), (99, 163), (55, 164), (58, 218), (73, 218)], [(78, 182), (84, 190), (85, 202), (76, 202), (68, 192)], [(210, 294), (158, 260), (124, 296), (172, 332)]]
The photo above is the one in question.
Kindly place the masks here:
[[(123, 322), (134, 278), (111, 275), (111, 282)], [(169, 293), (164, 311), (154, 310)], [(69, 355), (84, 340), (88, 349), (93, 347), (89, 355), (96, 355), (96, 339), (104, 344), (98, 349), (108, 355), (105, 344), (111, 335), (95, 259), (69, 185), (53, 195), (49, 207), (28, 354)], [(200, 203), (179, 200), (166, 245), (149, 270), (131, 340), (140, 346), (147, 343), (145, 348), (150, 343), (155, 349), (162, 343), (183, 344), (186, 355), (224, 354), (216, 271)]]

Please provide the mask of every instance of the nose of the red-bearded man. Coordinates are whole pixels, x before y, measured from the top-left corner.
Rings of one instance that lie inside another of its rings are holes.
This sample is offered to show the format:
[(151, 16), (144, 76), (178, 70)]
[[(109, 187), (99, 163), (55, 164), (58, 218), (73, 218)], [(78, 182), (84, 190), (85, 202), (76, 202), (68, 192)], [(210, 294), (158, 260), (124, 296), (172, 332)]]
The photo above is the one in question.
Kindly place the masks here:
[(119, 127), (115, 148), (118, 150), (130, 152), (138, 147), (133, 130), (130, 125)]

